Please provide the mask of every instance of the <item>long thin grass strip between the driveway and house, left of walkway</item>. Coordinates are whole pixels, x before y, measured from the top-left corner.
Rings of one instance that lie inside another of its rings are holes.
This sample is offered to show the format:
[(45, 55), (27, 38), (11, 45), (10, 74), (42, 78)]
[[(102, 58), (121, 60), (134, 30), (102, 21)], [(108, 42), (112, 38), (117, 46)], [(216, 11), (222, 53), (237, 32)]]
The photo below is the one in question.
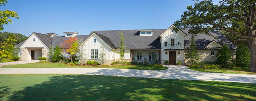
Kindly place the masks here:
[(29, 63), (2, 66), (1, 68), (118, 68), (118, 69), (135, 69), (135, 70), (166, 70), (167, 67), (159, 66), (110, 66), (110, 67), (93, 67), (93, 66), (67, 66), (64, 63)]

